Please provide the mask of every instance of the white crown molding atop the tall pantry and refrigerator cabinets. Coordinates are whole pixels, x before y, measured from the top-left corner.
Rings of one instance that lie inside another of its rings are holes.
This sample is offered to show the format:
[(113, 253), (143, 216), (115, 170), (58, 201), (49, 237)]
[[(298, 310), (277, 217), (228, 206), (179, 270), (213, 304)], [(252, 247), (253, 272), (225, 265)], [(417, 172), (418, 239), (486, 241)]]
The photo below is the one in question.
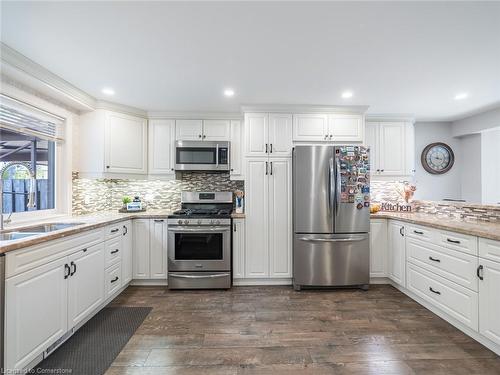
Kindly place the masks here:
[(364, 114), (367, 105), (243, 104), (242, 112)]

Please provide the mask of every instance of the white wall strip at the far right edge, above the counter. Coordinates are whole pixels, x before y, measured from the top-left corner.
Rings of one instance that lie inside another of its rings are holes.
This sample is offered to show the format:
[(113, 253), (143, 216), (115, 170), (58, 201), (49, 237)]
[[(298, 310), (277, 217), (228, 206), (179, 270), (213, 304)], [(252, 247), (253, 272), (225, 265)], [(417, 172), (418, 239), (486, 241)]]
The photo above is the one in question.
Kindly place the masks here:
[(483, 204), (500, 204), (500, 127), (481, 133)]

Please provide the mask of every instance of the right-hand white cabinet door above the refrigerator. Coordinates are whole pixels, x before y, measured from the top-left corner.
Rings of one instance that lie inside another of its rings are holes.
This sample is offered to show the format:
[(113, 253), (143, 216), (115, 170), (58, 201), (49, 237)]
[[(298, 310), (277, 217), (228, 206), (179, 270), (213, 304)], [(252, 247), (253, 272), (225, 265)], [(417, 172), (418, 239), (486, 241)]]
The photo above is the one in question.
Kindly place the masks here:
[(364, 120), (361, 115), (330, 115), (328, 117), (328, 140), (363, 142)]

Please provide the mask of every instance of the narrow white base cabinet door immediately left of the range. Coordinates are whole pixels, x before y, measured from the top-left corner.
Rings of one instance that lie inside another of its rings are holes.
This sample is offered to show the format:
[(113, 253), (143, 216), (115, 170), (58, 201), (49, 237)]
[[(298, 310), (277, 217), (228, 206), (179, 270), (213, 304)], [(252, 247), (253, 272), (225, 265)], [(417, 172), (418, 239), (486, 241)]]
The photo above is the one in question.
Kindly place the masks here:
[(152, 219), (149, 230), (149, 269), (151, 270), (151, 279), (166, 279), (167, 223), (163, 219)]

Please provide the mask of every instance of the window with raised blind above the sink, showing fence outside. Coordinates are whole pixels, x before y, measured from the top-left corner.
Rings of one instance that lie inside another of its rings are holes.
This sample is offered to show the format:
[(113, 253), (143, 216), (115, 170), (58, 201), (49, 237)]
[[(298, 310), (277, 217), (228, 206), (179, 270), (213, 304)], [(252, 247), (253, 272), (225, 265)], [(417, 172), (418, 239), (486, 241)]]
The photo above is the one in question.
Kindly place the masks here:
[(0, 128), (3, 213), (55, 208), (55, 142)]

